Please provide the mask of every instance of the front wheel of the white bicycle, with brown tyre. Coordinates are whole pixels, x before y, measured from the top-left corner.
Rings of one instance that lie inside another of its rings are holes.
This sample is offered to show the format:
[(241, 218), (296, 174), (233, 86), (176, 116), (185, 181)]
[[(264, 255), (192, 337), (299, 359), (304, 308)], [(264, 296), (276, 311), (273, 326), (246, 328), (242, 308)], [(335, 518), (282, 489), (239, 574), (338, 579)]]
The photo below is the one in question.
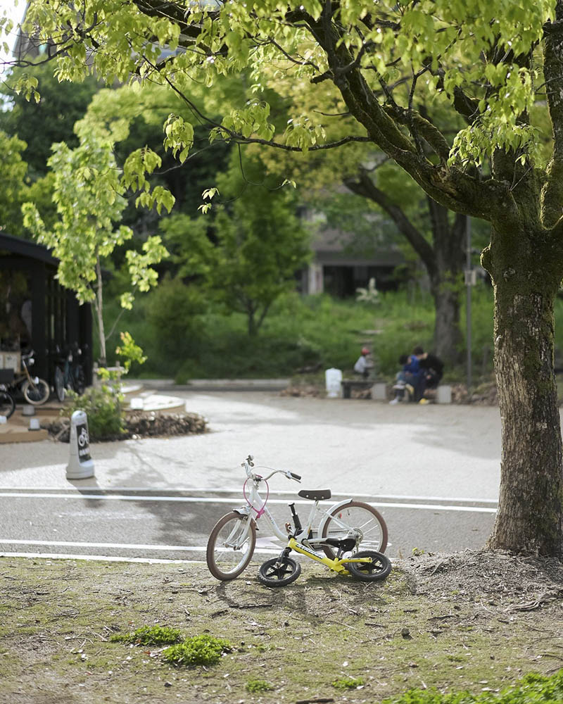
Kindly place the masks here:
[(236, 511), (217, 521), (207, 543), (207, 566), (215, 579), (238, 577), (251, 561), (256, 545), (256, 524)]

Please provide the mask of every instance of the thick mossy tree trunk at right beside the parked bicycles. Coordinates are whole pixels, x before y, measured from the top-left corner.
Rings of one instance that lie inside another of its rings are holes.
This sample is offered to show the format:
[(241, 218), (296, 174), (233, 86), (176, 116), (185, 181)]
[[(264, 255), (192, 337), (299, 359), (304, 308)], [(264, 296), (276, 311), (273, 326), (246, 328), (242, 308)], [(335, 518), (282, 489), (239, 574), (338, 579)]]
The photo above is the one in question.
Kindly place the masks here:
[[(561, 421), (553, 368), (560, 275), (540, 234), (505, 234), (483, 253), (495, 288), (495, 372), (502, 423), (500, 498), (491, 548), (563, 554)], [(509, 246), (506, 246), (509, 244)], [(536, 251), (534, 251), (536, 250)], [(541, 254), (541, 252), (540, 252)]]

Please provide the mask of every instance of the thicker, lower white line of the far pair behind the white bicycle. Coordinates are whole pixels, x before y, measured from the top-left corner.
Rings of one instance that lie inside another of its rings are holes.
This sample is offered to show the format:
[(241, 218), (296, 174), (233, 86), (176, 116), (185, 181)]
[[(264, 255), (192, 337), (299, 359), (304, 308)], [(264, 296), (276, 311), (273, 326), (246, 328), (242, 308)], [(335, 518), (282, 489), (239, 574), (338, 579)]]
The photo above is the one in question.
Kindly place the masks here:
[[(210, 498), (209, 496), (127, 496), (126, 494), (26, 494), (25, 492), (0, 492), (0, 497), (5, 498), (71, 498), (71, 499), (87, 499), (88, 501), (167, 501), (175, 503), (230, 503), (241, 505), (240, 501), (232, 498)], [(287, 504), (286, 499), (270, 498), (268, 503), (283, 503)], [(296, 505), (311, 505), (310, 501), (294, 501)], [(330, 506), (331, 501), (320, 502), (324, 506)], [(441, 505), (438, 503), (390, 503), (379, 501), (379, 508), (414, 508), (417, 510), (431, 511), (463, 511), (469, 513), (496, 513), (496, 508), (486, 508), (481, 506), (457, 506), (457, 505)]]

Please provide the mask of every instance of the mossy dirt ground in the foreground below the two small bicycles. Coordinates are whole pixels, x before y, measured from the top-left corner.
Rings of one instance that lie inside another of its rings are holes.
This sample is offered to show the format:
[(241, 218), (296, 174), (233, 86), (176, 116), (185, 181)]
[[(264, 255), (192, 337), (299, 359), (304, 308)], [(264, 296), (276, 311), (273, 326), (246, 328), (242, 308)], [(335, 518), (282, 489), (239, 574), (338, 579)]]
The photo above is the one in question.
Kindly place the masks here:
[[(201, 563), (0, 558), (0, 703), (361, 703), (411, 688), (495, 691), (563, 667), (554, 560), (420, 555), (375, 584), (305, 561), (278, 589), (256, 570), (220, 583)], [(109, 641), (145, 624), (234, 650), (182, 668), (161, 647)], [(334, 686), (343, 678), (353, 689)], [(252, 681), (271, 689), (248, 691)]]

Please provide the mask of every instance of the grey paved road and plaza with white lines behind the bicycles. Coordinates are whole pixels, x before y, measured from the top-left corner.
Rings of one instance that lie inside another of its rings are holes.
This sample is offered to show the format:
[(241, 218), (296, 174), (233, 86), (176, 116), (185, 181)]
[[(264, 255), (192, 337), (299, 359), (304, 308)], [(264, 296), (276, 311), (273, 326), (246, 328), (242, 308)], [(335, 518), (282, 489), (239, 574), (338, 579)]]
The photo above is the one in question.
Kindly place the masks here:
[[(241, 503), (239, 463), (248, 453), (302, 474), (302, 486), (330, 486), (377, 505), (391, 556), (476, 548), (491, 529), (496, 408), (260, 392), (182, 396), (188, 410), (208, 417), (210, 433), (94, 445), (94, 479), (65, 479), (68, 446), (0, 446), (0, 553), (201, 559), (217, 517)], [(295, 489), (272, 479), (270, 506), (281, 524)], [(277, 549), (260, 537), (263, 553)]]

